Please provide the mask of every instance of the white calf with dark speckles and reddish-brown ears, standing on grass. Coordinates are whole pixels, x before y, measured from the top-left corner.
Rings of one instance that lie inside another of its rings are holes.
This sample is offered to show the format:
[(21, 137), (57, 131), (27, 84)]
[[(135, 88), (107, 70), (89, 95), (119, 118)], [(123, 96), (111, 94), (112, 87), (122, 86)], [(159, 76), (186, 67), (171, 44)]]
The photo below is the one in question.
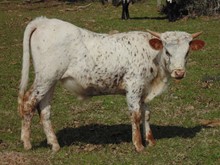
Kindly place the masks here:
[[(31, 120), (38, 110), (48, 144), (58, 151), (50, 121), (51, 99), (57, 81), (80, 98), (122, 94), (131, 112), (132, 140), (137, 151), (144, 149), (140, 131), (154, 145), (146, 104), (167, 86), (169, 77), (182, 79), (190, 50), (204, 46), (194, 40), (201, 33), (127, 32), (98, 34), (58, 20), (37, 18), (24, 32), (23, 65), (18, 97), (22, 117), (21, 140), (31, 149)], [(35, 79), (27, 90), (30, 53)]]

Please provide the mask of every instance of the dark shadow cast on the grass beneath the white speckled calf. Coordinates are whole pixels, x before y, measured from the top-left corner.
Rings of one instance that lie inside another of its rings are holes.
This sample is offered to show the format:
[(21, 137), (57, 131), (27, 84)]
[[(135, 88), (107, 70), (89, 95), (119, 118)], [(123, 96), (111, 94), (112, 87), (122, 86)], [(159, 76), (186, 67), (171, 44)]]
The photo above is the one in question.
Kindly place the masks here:
[[(193, 138), (201, 131), (203, 126), (185, 128), (182, 126), (160, 126), (151, 125), (155, 139), (164, 138)], [(64, 128), (57, 133), (57, 138), (61, 147), (71, 146), (79, 142), (88, 144), (119, 144), (131, 142), (131, 125), (102, 125), (91, 124), (78, 128)], [(46, 145), (46, 140), (41, 146)]]

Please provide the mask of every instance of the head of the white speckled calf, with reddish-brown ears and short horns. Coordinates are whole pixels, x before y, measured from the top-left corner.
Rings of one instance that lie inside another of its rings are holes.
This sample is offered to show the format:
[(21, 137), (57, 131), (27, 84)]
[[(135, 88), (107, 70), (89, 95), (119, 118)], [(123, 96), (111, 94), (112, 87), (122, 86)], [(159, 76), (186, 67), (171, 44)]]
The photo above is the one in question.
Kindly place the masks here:
[(161, 51), (161, 62), (171, 77), (182, 79), (186, 73), (187, 56), (190, 50), (199, 50), (205, 42), (195, 40), (202, 32), (188, 34), (186, 32), (157, 33), (148, 30), (156, 38), (150, 39), (149, 44), (155, 50)]

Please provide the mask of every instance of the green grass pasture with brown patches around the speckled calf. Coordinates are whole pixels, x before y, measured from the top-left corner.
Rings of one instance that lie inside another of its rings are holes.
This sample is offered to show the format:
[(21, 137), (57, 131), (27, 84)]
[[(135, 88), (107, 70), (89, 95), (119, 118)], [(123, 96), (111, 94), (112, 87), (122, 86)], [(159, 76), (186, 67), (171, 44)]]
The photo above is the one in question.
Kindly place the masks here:
[[(0, 3), (0, 164), (220, 164), (220, 18), (169, 23), (157, 12), (155, 0), (131, 5), (130, 15), (133, 19), (122, 21), (121, 7), (98, 2)], [(53, 154), (46, 145), (37, 114), (32, 124), (33, 149), (23, 149), (17, 113), (22, 39), (27, 23), (38, 16), (59, 18), (100, 33), (146, 29), (204, 32), (200, 38), (206, 47), (190, 55), (187, 77), (179, 84), (171, 80), (169, 89), (149, 105), (156, 146), (135, 152), (123, 96), (81, 102), (58, 84), (51, 119), (61, 150)]]

